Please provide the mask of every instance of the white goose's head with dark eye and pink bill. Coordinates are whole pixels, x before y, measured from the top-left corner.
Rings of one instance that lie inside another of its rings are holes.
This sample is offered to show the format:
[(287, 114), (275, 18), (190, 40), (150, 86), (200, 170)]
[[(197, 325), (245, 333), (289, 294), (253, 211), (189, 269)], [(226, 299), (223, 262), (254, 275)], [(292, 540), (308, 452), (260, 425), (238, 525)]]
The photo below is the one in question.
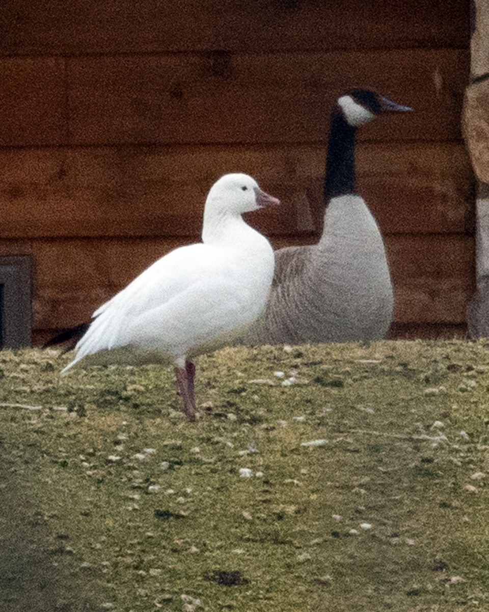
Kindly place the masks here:
[(241, 215), (277, 204), (280, 201), (262, 191), (254, 178), (248, 174), (234, 173), (224, 174), (212, 185), (205, 207)]

